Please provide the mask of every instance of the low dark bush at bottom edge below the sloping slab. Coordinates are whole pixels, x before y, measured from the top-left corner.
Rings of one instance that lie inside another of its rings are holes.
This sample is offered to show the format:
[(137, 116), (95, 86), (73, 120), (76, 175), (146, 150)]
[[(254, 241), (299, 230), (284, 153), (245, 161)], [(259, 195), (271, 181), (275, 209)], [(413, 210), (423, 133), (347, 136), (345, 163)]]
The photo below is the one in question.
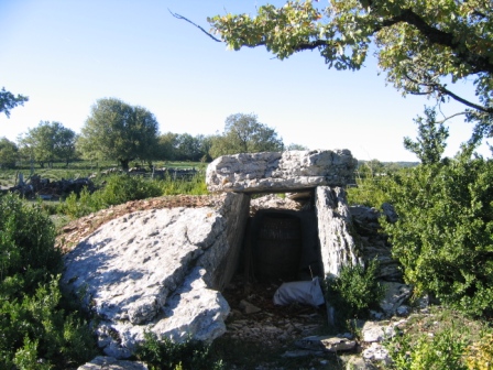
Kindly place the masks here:
[(156, 335), (145, 333), (145, 341), (140, 345), (135, 356), (155, 370), (220, 370), (222, 361), (212, 359), (208, 346), (200, 341), (174, 342), (168, 338), (160, 340)]

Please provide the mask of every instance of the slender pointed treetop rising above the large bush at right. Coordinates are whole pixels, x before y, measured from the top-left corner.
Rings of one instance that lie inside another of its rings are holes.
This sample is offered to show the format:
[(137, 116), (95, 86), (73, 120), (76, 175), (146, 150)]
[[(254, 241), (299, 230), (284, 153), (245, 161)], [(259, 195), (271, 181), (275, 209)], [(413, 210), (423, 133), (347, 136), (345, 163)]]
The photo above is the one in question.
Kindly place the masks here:
[(427, 108), (425, 115), (426, 119), (418, 117), (415, 120), (418, 124), (418, 138), (416, 141), (404, 138), (404, 148), (416, 154), (423, 164), (438, 163), (447, 146), (449, 130), (442, 122), (436, 121), (434, 109)]

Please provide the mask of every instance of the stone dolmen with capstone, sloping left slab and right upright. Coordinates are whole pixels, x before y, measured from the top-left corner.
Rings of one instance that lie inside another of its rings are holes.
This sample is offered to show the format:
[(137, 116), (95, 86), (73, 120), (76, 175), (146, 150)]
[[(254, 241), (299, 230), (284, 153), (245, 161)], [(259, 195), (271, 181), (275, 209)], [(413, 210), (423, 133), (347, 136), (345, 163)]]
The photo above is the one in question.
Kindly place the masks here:
[(65, 255), (64, 286), (91, 313), (98, 345), (132, 356), (145, 333), (212, 341), (230, 312), (221, 295), (239, 263), (255, 193), (313, 191), (326, 274), (359, 263), (342, 189), (357, 160), (349, 150), (224, 155), (206, 182), (219, 206), (150, 209), (113, 219)]

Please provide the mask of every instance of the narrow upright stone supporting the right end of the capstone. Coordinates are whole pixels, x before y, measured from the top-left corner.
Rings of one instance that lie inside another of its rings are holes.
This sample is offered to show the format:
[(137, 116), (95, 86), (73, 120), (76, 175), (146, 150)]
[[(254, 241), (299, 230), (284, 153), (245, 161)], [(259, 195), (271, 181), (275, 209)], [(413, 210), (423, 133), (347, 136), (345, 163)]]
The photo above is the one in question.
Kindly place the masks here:
[(339, 275), (342, 265), (362, 263), (344, 191), (340, 187), (317, 187), (315, 207), (326, 276)]

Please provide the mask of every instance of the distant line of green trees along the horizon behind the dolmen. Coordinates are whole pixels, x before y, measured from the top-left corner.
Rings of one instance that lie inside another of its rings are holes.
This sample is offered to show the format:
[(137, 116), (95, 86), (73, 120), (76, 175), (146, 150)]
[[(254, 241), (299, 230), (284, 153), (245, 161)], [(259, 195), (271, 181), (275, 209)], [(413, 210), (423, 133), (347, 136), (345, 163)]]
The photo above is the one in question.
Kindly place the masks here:
[(56, 121), (41, 121), (12, 142), (0, 138), (0, 167), (21, 162), (51, 167), (54, 162), (68, 166), (75, 160), (112, 160), (128, 170), (132, 161), (210, 162), (224, 154), (307, 149), (285, 145), (275, 129), (259, 122), (253, 113), (227, 117), (224, 130), (212, 135), (160, 133), (154, 115), (140, 106), (116, 98), (99, 99), (80, 133)]

